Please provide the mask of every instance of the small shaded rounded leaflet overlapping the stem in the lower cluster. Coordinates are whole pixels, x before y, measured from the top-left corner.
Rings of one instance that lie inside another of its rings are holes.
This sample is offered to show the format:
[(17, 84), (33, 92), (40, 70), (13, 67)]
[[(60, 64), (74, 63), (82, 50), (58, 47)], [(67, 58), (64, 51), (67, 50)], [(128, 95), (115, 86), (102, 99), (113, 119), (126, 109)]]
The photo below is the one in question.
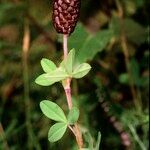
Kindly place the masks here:
[(72, 107), (68, 114), (68, 123), (73, 125), (78, 121), (79, 118), (79, 109), (77, 107)]

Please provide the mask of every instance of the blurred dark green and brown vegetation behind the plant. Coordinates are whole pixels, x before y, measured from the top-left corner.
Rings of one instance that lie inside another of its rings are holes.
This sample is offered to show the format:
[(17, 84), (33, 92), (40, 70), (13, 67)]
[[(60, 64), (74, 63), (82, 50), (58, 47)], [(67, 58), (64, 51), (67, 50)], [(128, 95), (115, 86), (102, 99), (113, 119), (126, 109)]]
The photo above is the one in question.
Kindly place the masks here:
[[(73, 102), (85, 147), (102, 135), (101, 150), (148, 150), (148, 0), (82, 0), (69, 48), (92, 70), (73, 80)], [(52, 0), (0, 0), (0, 150), (76, 150), (70, 131), (50, 144), (53, 124), (39, 103), (56, 101), (67, 112), (61, 85), (36, 85), (45, 57), (62, 60), (62, 36), (51, 21)], [(25, 33), (30, 45), (23, 51)]]

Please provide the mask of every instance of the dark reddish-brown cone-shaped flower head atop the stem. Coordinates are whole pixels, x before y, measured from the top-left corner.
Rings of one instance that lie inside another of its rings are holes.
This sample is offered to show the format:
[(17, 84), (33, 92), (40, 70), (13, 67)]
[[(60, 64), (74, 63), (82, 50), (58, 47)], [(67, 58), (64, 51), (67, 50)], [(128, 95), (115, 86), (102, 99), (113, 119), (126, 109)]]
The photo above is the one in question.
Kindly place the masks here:
[(58, 33), (71, 34), (79, 18), (81, 0), (54, 0), (53, 25)]

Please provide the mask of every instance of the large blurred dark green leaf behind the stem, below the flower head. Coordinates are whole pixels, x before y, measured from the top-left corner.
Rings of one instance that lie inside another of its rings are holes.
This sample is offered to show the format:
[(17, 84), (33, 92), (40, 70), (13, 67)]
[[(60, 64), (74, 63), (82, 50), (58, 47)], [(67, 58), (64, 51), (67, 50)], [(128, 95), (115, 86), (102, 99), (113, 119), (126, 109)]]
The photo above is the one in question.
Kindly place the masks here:
[[(92, 60), (94, 56), (102, 51), (112, 38), (112, 30), (101, 30), (95, 35), (89, 34), (79, 24), (76, 32), (69, 38), (69, 48), (74, 47), (77, 51), (77, 60), (82, 63)], [(80, 40), (79, 40), (80, 39)]]

